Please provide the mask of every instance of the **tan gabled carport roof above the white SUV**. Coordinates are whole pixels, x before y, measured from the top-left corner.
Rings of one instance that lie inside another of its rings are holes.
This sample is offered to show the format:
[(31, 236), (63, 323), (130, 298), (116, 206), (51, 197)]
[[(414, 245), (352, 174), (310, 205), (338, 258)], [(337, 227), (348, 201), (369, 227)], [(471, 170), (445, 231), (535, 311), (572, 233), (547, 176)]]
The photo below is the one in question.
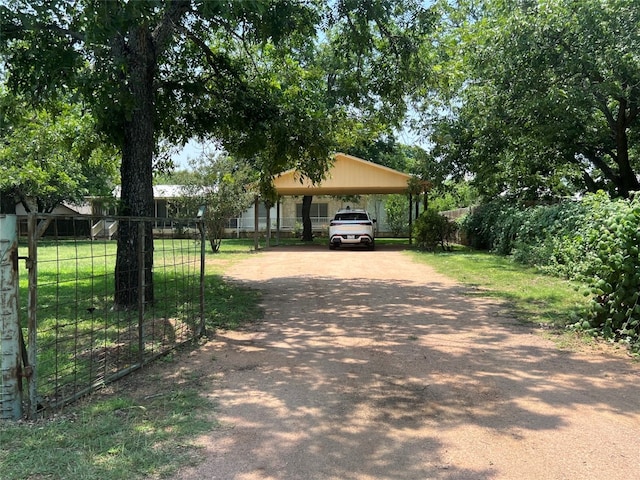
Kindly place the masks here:
[(300, 181), (296, 170), (287, 170), (273, 179), (276, 191), (287, 195), (366, 195), (406, 193), (411, 175), (361, 158), (336, 153), (324, 180), (314, 185)]

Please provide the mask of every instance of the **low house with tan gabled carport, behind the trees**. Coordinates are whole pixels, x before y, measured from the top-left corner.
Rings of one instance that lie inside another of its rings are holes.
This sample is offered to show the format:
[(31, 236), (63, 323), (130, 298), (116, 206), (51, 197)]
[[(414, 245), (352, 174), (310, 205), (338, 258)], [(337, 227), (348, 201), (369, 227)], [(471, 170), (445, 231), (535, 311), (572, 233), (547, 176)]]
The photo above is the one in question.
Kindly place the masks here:
[[(337, 153), (333, 165), (325, 178), (318, 184), (302, 179), (295, 170), (282, 172), (274, 177), (274, 186), (280, 194), (280, 200), (271, 207), (269, 215), (262, 202), (251, 205), (238, 218), (231, 219), (226, 229), (229, 237), (241, 237), (254, 233), (255, 225), (259, 232), (282, 232), (284, 235), (297, 235), (302, 229), (302, 199), (312, 196), (311, 222), (316, 235), (328, 233), (329, 221), (334, 213), (346, 206), (364, 208), (377, 220), (378, 234), (390, 231), (387, 226), (385, 201), (388, 194), (407, 194), (411, 176), (398, 172), (383, 165), (378, 165), (357, 157)], [(172, 209), (172, 202), (185, 195), (189, 189), (183, 185), (156, 185), (153, 187), (154, 217), (156, 234), (166, 233), (176, 228), (171, 221), (176, 212)], [(120, 188), (116, 188), (111, 198), (89, 198), (83, 205), (62, 204), (56, 208), (55, 214), (68, 217), (86, 216), (86, 226), (82, 227), (81, 235), (91, 238), (114, 238), (117, 233), (118, 222), (109, 219), (117, 213), (117, 199)], [(20, 207), (21, 208), (21, 207)], [(256, 211), (257, 208), (257, 211)], [(26, 214), (24, 209), (18, 214)], [(195, 217), (196, 212), (186, 217)], [(106, 218), (104, 218), (106, 217)], [(163, 222), (162, 219), (167, 219)], [(267, 224), (269, 219), (269, 225)], [(56, 222), (59, 224), (59, 222)], [(77, 221), (64, 228), (64, 232), (49, 232), (48, 234), (73, 235), (77, 234)], [(26, 228), (26, 224), (25, 224)], [(59, 227), (57, 227), (59, 228)]]

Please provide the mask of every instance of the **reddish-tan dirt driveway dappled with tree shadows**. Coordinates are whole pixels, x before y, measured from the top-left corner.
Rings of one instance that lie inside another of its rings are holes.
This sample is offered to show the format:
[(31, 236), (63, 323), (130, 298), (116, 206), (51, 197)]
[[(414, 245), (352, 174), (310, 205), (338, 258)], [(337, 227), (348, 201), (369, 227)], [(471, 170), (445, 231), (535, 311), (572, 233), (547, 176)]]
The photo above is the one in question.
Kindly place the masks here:
[(274, 248), (228, 276), (266, 316), (194, 358), (221, 428), (183, 480), (640, 478), (628, 358), (561, 350), (384, 247)]

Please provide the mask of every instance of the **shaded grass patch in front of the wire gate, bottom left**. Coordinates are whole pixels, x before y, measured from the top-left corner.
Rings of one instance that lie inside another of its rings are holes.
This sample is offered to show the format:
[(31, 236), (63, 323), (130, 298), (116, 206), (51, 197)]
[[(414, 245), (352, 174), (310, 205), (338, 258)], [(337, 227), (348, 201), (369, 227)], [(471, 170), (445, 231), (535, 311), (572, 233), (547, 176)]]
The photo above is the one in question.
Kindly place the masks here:
[(146, 397), (130, 383), (130, 393), (96, 394), (51, 420), (0, 425), (2, 478), (170, 478), (197, 463), (193, 439), (216, 427), (214, 404), (182, 378), (157, 385)]

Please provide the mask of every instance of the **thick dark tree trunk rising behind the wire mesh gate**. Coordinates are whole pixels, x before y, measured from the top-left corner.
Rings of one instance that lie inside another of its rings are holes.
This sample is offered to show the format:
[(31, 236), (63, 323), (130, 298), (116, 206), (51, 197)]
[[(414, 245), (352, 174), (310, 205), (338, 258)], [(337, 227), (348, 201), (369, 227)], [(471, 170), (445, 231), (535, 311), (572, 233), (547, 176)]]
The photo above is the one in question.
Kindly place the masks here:
[[(127, 81), (134, 108), (124, 121), (122, 190), (120, 215), (153, 216), (153, 151), (154, 135), (154, 74), (156, 59), (151, 36), (144, 28), (132, 31), (127, 54)], [(151, 222), (144, 227), (144, 300), (153, 301), (153, 236)], [(127, 308), (138, 303), (139, 292), (138, 222), (121, 221), (118, 225), (116, 254), (116, 306)]]

